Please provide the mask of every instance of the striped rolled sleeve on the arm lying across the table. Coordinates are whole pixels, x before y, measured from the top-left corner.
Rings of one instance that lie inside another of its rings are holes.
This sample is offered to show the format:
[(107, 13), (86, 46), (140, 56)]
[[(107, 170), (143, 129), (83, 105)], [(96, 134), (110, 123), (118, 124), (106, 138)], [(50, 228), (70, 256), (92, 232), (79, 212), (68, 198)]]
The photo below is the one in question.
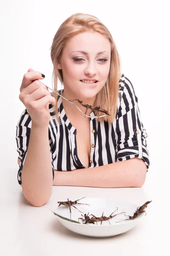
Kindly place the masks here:
[(149, 169), (147, 134), (143, 128), (138, 98), (129, 79), (124, 77), (120, 86), (120, 106), (116, 118), (116, 161), (138, 157)]

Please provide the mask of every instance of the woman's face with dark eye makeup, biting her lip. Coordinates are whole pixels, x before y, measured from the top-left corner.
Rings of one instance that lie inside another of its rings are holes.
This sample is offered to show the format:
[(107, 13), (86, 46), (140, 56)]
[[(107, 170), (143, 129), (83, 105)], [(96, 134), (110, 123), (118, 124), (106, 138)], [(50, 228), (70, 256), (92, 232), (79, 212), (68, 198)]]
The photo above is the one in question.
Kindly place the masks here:
[[(62, 69), (65, 96), (70, 99), (95, 99), (108, 78), (110, 61), (111, 44), (103, 35), (89, 31), (72, 37), (57, 65), (58, 69)], [(84, 79), (97, 82), (86, 83), (82, 81)]]

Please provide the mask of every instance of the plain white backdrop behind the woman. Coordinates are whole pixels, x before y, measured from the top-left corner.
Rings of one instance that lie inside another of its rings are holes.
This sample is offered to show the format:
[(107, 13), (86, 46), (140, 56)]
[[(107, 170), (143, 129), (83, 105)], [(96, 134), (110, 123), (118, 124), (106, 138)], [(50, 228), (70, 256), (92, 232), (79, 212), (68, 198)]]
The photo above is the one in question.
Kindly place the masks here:
[[(168, 1), (0, 2), (0, 167), (16, 169), (16, 125), (25, 106), (20, 86), (29, 68), (45, 74), (52, 87), (50, 47), (60, 24), (76, 12), (95, 15), (110, 30), (139, 101), (147, 132), (150, 169), (144, 188), (161, 200), (169, 186), (170, 40)], [(149, 198), (148, 198), (149, 199)]]

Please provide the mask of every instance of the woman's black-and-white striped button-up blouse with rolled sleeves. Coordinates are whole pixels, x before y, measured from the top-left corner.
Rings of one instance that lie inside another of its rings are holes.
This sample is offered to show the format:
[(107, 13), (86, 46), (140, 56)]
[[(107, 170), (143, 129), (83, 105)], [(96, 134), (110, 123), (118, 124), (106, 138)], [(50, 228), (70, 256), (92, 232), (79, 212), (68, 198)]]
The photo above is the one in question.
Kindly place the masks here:
[[(57, 92), (60, 94), (62, 90)], [(51, 95), (53, 96), (53, 92)], [(150, 162), (146, 143), (147, 134), (141, 121), (138, 98), (132, 83), (124, 74), (119, 80), (119, 99), (116, 118), (113, 122), (99, 122), (95, 118), (89, 117), (91, 136), (89, 166), (85, 166), (77, 155), (77, 129), (68, 120), (60, 96), (58, 96), (57, 105), (61, 119), (60, 124), (54, 115), (54, 106), (49, 103), (48, 137), (53, 180), (55, 169), (71, 171), (93, 168), (133, 157), (141, 158), (148, 171)], [(94, 112), (90, 116), (95, 116)], [(17, 179), (22, 186), (22, 169), (26, 160), (31, 132), (31, 117), (26, 109), (21, 113), (16, 127), (17, 152), (20, 159)]]

